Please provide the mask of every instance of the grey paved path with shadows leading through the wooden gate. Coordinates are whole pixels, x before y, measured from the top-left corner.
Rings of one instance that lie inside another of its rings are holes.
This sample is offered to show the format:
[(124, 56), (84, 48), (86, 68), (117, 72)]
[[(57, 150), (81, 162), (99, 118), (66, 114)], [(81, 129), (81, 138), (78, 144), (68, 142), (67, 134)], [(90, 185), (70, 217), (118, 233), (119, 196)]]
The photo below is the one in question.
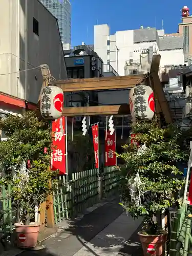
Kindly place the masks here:
[(141, 256), (141, 222), (126, 216), (117, 200), (111, 201), (70, 221), (70, 227), (44, 242), (46, 249), (20, 256)]

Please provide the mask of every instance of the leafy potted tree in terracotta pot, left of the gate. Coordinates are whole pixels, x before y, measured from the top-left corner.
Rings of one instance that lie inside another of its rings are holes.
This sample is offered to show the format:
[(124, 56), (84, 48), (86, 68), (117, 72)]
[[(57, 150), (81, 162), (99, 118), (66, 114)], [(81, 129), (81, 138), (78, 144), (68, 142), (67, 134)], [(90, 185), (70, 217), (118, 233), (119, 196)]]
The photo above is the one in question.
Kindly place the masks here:
[(35, 247), (41, 224), (33, 222), (35, 205), (52, 193), (50, 180), (56, 175), (48, 171), (50, 127), (33, 112), (3, 118), (0, 127), (8, 137), (0, 142), (1, 184), (11, 184), (12, 201), (20, 212), (20, 222), (15, 224), (17, 246)]

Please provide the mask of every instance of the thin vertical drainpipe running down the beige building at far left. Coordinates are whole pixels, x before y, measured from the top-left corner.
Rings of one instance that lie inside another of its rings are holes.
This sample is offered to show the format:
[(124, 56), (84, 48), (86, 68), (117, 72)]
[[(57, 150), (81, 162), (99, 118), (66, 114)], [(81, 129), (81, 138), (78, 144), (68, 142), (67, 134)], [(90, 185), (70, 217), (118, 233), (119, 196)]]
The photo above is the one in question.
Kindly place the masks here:
[(27, 100), (27, 69), (28, 69), (28, 0), (25, 0), (25, 100)]

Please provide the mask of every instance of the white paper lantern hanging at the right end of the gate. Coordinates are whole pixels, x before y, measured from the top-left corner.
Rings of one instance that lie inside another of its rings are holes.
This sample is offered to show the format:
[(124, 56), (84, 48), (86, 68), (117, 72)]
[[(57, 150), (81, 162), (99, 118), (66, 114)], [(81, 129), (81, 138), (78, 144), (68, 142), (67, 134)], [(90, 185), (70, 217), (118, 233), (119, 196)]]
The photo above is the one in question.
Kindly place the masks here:
[(133, 121), (151, 120), (155, 113), (154, 92), (143, 84), (130, 90), (130, 111)]

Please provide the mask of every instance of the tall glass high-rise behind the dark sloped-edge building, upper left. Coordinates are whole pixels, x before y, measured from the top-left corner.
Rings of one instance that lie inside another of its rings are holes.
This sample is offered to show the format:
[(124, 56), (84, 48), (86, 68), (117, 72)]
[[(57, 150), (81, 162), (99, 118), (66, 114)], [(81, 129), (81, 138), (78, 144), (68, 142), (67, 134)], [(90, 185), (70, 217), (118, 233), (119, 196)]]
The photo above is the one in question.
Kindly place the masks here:
[(40, 0), (58, 19), (63, 46), (71, 45), (71, 3), (69, 0)]

